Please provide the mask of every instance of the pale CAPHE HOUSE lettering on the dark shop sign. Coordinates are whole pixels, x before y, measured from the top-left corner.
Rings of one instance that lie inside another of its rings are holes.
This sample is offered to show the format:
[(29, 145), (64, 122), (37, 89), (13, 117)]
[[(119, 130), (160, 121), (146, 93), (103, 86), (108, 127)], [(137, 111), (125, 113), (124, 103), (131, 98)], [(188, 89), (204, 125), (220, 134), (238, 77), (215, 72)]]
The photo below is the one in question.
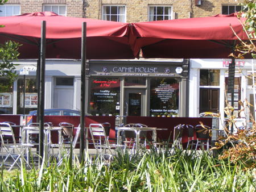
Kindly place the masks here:
[(115, 73), (158, 73), (158, 68), (147, 68), (143, 66), (136, 66), (136, 67), (115, 66), (113, 68), (113, 72)]

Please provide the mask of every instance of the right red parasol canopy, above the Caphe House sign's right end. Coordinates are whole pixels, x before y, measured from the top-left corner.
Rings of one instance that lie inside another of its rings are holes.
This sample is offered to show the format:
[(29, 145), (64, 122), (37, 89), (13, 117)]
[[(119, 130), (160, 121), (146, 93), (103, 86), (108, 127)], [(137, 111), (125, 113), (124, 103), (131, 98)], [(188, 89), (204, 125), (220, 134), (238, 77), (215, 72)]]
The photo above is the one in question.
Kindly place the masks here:
[(133, 23), (134, 55), (142, 49), (144, 58), (228, 58), (237, 40), (230, 25), (247, 39), (236, 14)]

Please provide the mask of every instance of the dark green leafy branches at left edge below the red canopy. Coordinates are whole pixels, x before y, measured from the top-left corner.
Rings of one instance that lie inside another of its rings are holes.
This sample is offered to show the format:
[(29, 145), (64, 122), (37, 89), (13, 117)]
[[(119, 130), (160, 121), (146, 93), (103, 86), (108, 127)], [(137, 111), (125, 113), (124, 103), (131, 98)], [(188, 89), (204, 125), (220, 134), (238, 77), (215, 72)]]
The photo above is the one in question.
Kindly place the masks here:
[[(0, 0), (0, 5), (3, 5), (7, 0)], [(0, 24), (0, 27), (5, 27)], [(8, 89), (13, 84), (15, 77), (17, 76), (12, 70), (15, 69), (13, 60), (18, 59), (19, 44), (14, 41), (7, 41), (5, 44), (0, 44), (0, 77), (5, 77), (9, 80), (8, 84), (0, 84), (1, 91)]]

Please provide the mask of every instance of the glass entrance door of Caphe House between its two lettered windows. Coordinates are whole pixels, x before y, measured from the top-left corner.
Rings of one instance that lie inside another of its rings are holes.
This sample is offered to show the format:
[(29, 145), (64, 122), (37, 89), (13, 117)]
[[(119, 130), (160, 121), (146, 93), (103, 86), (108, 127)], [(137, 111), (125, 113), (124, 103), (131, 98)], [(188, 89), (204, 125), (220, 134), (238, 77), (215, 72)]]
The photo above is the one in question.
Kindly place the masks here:
[(124, 109), (126, 116), (146, 116), (146, 90), (125, 89)]

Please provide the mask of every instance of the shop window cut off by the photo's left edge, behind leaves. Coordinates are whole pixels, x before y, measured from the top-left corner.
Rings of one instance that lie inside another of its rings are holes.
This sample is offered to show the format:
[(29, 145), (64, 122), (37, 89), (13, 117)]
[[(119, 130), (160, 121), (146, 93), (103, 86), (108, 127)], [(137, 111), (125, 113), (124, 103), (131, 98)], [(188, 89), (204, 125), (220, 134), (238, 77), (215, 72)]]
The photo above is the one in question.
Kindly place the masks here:
[(13, 86), (0, 79), (0, 114), (13, 114)]

